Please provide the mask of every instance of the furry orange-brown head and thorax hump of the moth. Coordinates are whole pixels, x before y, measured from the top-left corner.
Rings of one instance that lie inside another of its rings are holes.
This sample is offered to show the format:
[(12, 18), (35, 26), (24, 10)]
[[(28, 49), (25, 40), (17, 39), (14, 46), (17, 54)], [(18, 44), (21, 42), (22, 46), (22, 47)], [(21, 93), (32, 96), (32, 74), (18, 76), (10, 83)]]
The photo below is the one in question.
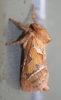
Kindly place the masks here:
[(51, 38), (43, 26), (39, 24), (31, 24), (32, 29), (35, 31), (35, 35), (42, 41), (43, 44), (51, 42)]

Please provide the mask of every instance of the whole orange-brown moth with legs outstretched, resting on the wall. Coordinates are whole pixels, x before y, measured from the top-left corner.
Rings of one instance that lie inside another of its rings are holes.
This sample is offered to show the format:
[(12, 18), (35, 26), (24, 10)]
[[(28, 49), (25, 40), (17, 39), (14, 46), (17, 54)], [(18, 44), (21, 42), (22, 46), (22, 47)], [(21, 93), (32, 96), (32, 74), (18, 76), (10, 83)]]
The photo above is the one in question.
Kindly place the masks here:
[(38, 24), (34, 5), (32, 5), (32, 19), (34, 23), (27, 27), (10, 18), (9, 20), (25, 30), (26, 34), (20, 40), (6, 43), (6, 45), (23, 44), (24, 61), (21, 66), (20, 81), (22, 90), (27, 92), (48, 91), (49, 71), (45, 46), (51, 41), (51, 38), (46, 29)]

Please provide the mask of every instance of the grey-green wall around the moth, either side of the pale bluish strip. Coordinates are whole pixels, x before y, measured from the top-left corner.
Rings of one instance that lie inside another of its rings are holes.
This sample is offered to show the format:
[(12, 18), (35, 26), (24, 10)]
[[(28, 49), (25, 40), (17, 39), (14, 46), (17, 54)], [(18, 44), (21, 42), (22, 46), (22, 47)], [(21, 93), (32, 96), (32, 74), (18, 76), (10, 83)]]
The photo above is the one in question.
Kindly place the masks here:
[[(5, 47), (4, 45), (6, 41), (10, 42), (15, 40), (20, 35), (19, 29), (9, 22), (8, 18), (12, 17), (13, 19), (25, 24), (28, 21), (30, 22), (28, 19), (30, 14), (30, 2), (31, 0), (0, 0), (0, 100), (29, 100), (30, 98), (30, 94), (22, 92), (19, 89), (18, 81), (20, 63), (17, 64), (16, 62), (20, 62), (20, 46)], [(27, 12), (25, 12), (25, 9)], [(60, 21), (61, 1), (46, 0), (45, 27), (53, 41), (47, 47), (47, 59), (50, 72), (50, 91), (43, 93), (44, 100), (61, 99)], [(40, 95), (40, 93), (32, 94), (33, 100), (38, 100), (38, 95)]]

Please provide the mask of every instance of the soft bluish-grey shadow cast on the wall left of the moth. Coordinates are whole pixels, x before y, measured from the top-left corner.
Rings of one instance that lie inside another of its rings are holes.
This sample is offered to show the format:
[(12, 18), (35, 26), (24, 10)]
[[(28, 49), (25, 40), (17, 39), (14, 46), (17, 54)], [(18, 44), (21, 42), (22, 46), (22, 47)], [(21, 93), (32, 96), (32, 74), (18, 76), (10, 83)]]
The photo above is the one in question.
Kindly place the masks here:
[[(30, 11), (23, 23), (28, 22)], [(8, 22), (6, 29), (6, 42), (17, 40), (22, 31), (19, 30), (12, 22)], [(20, 45), (6, 46), (5, 68), (3, 70), (3, 77), (7, 84), (15, 89), (20, 89), (20, 63), (21, 63), (22, 48)]]

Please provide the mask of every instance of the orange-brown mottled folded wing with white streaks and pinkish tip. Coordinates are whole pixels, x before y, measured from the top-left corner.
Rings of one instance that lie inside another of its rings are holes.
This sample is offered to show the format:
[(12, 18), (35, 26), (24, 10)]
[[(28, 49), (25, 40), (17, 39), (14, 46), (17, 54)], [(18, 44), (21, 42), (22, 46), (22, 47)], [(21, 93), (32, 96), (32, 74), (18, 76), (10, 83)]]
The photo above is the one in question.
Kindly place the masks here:
[(48, 69), (44, 59), (44, 45), (31, 37), (26, 46), (25, 59), (21, 77), (21, 88), (27, 92), (49, 90)]

